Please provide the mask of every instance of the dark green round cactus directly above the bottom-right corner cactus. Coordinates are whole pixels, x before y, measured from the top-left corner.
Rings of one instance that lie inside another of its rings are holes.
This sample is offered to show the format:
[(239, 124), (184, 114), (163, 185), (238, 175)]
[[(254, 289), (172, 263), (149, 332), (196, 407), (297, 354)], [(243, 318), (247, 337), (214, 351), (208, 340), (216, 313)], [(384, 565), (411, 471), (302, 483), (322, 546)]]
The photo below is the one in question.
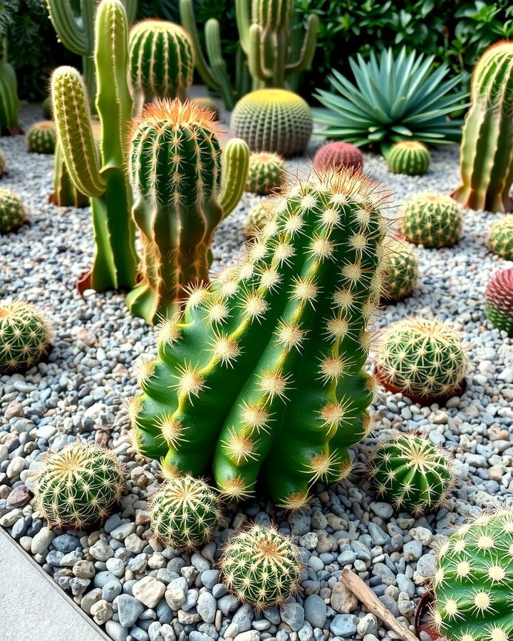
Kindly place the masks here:
[(413, 516), (440, 507), (452, 484), (447, 454), (415, 434), (398, 434), (378, 444), (369, 471), (378, 496)]

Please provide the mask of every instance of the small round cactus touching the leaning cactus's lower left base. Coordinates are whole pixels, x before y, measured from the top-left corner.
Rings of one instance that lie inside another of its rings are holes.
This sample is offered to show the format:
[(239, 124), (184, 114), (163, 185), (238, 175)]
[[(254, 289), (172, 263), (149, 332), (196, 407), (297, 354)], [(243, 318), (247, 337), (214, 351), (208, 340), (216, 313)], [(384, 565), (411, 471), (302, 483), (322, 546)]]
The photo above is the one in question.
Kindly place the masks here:
[(221, 518), (217, 494), (194, 476), (165, 481), (152, 497), (150, 514), (155, 536), (177, 549), (208, 543)]

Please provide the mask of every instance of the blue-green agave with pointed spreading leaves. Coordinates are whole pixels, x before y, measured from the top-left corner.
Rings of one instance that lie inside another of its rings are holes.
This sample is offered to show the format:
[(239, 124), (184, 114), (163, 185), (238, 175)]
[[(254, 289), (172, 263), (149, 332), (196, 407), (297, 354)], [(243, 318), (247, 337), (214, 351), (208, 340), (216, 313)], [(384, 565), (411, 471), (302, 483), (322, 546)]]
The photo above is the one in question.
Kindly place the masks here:
[(420, 140), (427, 145), (457, 142), (462, 120), (447, 115), (464, 109), (466, 93), (452, 92), (460, 76), (446, 79), (446, 65), (433, 69), (435, 56), (403, 47), (397, 57), (388, 49), (368, 61), (358, 54), (349, 63), (356, 84), (333, 70), (329, 80), (338, 93), (319, 89), (316, 98), (327, 108), (314, 110), (316, 132), (358, 147), (380, 145), (383, 155), (394, 142)]

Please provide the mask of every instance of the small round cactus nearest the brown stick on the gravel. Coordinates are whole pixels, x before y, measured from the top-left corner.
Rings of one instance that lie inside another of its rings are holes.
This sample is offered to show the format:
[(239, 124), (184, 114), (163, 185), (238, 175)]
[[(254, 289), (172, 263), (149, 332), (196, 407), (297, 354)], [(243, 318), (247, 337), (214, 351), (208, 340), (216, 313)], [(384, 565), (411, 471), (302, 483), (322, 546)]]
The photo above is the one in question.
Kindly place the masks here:
[(298, 554), (276, 528), (255, 524), (238, 533), (219, 563), (228, 589), (257, 610), (283, 603), (299, 588)]

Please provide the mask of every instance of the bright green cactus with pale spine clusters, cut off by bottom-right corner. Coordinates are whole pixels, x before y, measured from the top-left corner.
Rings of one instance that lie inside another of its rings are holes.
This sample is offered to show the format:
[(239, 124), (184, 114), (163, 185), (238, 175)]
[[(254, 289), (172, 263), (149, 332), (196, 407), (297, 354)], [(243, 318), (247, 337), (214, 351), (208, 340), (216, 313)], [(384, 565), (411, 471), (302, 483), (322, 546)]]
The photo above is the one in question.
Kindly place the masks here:
[(451, 641), (507, 641), (513, 635), (513, 511), (485, 514), (440, 549), (433, 618)]

